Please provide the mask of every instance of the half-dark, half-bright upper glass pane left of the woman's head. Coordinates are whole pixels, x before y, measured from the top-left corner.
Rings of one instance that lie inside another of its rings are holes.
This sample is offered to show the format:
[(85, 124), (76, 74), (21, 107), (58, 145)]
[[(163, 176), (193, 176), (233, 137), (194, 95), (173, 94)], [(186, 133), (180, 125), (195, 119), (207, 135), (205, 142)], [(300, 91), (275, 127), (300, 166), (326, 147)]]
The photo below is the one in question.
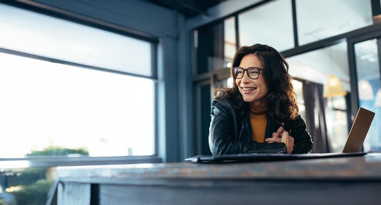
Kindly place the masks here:
[(198, 74), (231, 66), (237, 50), (234, 17), (195, 30), (194, 38)]

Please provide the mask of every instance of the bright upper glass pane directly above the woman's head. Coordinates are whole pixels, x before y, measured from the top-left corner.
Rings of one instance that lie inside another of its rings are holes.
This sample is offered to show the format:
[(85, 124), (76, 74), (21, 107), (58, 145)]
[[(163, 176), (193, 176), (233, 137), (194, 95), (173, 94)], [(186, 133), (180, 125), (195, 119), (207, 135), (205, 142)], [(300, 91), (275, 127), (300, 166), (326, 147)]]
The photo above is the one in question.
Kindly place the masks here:
[(238, 15), (240, 46), (266, 44), (279, 51), (294, 48), (291, 0), (277, 0)]

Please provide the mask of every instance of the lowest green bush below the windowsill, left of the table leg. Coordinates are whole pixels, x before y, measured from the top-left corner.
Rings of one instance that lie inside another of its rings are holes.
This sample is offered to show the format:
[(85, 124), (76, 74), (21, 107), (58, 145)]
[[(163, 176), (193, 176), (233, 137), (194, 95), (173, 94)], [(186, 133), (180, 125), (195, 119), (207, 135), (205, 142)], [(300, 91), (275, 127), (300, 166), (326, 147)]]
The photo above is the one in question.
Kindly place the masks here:
[[(45, 205), (50, 186), (54, 181), (40, 179), (24, 189), (12, 192), (17, 204), (22, 205)], [(1, 204), (0, 204), (1, 205)]]

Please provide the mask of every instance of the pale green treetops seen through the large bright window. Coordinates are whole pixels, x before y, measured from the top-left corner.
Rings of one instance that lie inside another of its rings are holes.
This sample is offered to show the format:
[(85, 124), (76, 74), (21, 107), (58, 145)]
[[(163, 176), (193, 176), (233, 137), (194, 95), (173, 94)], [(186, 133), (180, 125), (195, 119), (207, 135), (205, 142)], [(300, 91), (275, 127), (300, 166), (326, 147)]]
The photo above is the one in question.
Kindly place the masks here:
[(85, 147), (78, 149), (68, 149), (64, 147), (50, 146), (43, 149), (43, 151), (32, 151), (30, 154), (26, 154), (26, 156), (66, 156), (69, 154), (80, 154), (88, 156), (89, 151)]

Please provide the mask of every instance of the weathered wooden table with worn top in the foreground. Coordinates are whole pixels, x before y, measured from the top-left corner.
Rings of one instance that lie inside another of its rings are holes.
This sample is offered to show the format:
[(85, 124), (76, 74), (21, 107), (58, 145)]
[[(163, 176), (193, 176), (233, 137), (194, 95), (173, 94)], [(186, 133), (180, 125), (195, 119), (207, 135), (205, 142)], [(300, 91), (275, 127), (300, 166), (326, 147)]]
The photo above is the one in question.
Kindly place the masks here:
[(381, 204), (381, 154), (59, 167), (58, 205)]

